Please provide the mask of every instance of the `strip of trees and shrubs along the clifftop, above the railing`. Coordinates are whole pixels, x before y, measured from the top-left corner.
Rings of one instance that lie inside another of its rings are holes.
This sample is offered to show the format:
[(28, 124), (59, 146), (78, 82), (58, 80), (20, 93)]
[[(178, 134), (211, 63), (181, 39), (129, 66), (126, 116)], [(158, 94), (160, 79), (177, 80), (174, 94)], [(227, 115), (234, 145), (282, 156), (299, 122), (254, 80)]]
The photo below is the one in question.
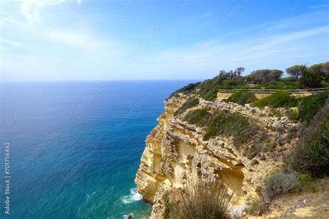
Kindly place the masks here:
[(205, 100), (215, 100), (219, 89), (305, 89), (329, 87), (329, 62), (295, 65), (286, 69), (289, 77), (282, 78), (283, 71), (278, 69), (260, 69), (247, 76), (241, 76), (243, 67), (235, 71), (220, 71), (212, 79), (189, 84), (178, 89), (170, 97), (179, 93), (196, 94)]

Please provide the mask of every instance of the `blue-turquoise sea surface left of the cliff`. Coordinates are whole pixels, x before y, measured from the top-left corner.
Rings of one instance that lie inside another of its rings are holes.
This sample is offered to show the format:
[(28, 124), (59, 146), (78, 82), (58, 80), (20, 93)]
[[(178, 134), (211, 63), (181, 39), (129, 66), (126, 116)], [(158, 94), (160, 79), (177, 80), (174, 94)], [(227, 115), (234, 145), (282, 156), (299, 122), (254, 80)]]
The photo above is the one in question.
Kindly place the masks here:
[(0, 218), (149, 216), (134, 183), (144, 140), (189, 82), (2, 82)]

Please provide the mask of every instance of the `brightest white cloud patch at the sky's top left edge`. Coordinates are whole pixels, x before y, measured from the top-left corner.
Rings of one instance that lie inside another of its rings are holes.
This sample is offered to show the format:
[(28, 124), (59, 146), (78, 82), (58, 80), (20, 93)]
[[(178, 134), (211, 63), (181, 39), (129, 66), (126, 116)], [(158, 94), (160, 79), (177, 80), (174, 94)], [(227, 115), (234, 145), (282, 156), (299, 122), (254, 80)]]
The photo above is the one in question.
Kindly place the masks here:
[[(80, 5), (81, 1), (82, 0), (76, 0), (76, 3)], [(29, 22), (41, 21), (41, 8), (44, 6), (55, 6), (64, 2), (65, 0), (24, 0), (22, 4), (22, 15), (24, 15)]]

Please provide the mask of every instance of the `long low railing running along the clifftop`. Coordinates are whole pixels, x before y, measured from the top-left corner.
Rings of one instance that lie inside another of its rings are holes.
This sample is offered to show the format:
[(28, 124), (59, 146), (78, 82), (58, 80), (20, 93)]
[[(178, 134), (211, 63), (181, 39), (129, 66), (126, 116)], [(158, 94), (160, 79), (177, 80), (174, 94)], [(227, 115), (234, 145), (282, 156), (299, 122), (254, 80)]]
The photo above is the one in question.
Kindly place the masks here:
[(289, 94), (317, 94), (329, 90), (329, 87), (309, 88), (309, 89), (219, 89), (220, 93), (236, 93), (243, 91), (244, 93), (254, 94), (273, 94), (276, 91), (287, 91)]

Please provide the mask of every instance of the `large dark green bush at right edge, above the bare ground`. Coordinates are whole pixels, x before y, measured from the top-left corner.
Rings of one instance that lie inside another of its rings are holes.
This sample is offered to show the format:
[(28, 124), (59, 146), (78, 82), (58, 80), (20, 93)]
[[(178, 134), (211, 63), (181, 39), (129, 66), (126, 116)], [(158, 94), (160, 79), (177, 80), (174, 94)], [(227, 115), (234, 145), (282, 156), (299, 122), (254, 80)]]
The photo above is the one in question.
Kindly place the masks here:
[(287, 164), (298, 173), (317, 177), (329, 175), (329, 103), (327, 103), (301, 133), (298, 145)]

